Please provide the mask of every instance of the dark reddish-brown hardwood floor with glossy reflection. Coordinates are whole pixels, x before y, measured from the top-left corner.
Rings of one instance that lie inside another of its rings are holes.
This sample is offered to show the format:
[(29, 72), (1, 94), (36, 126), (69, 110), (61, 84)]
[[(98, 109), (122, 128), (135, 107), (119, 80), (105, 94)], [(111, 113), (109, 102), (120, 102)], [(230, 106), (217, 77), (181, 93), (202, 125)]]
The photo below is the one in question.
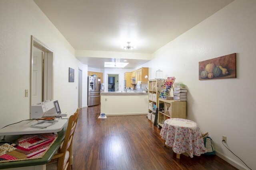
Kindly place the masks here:
[(73, 170), (236, 170), (218, 156), (176, 154), (146, 115), (98, 119), (100, 106), (83, 108), (74, 134)]

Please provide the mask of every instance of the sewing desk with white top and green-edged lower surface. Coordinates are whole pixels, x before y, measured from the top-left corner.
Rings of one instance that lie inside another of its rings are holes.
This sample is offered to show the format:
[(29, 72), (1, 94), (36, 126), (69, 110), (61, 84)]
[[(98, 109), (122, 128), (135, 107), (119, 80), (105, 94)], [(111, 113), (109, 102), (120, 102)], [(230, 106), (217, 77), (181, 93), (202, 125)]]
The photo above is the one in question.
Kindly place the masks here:
[[(34, 120), (36, 121), (36, 120)], [(14, 125), (10, 125), (3, 129), (0, 129), (0, 136), (8, 135), (10, 139), (18, 139), (21, 134), (36, 134), (36, 133), (56, 133), (58, 132), (58, 138), (52, 144), (50, 149), (44, 154), (42, 158), (32, 159), (32, 160), (21, 160), (14, 162), (2, 162), (0, 163), (0, 169), (6, 170), (45, 170), (46, 163), (50, 162), (61, 143), (64, 141), (66, 134), (66, 128), (68, 126), (68, 119), (59, 119), (57, 123), (52, 126), (49, 126), (45, 129), (38, 129), (30, 127), (31, 124), (36, 122), (23, 121)], [(29, 122), (29, 123), (28, 123)]]

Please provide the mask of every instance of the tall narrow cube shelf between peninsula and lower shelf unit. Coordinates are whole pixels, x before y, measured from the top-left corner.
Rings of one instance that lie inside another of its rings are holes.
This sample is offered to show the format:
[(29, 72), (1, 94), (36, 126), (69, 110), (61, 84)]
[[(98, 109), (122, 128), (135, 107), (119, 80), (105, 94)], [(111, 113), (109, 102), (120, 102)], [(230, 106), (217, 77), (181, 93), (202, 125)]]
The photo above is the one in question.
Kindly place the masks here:
[(152, 112), (151, 121), (154, 122), (154, 113), (156, 113), (155, 108), (158, 107), (158, 98), (160, 92), (162, 90), (162, 86), (164, 86), (164, 79), (154, 79), (148, 80), (148, 112)]

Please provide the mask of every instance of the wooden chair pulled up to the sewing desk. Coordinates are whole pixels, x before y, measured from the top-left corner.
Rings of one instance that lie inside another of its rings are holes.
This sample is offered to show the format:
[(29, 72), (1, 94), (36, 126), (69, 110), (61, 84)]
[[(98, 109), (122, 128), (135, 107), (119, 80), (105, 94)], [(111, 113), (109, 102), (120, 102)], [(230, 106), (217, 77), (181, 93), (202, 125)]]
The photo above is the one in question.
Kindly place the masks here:
[(63, 145), (59, 152), (54, 154), (52, 160), (46, 165), (46, 170), (71, 170), (70, 157), (72, 156), (72, 141), (80, 108), (68, 119), (68, 127)]

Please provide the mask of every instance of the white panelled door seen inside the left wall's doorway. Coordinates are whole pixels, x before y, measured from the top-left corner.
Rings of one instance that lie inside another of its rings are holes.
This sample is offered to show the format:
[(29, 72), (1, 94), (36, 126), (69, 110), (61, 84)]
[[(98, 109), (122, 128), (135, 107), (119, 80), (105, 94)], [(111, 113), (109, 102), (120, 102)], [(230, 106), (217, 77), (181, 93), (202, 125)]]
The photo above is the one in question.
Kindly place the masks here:
[(36, 47), (33, 47), (31, 104), (42, 102), (42, 56), (43, 52)]

